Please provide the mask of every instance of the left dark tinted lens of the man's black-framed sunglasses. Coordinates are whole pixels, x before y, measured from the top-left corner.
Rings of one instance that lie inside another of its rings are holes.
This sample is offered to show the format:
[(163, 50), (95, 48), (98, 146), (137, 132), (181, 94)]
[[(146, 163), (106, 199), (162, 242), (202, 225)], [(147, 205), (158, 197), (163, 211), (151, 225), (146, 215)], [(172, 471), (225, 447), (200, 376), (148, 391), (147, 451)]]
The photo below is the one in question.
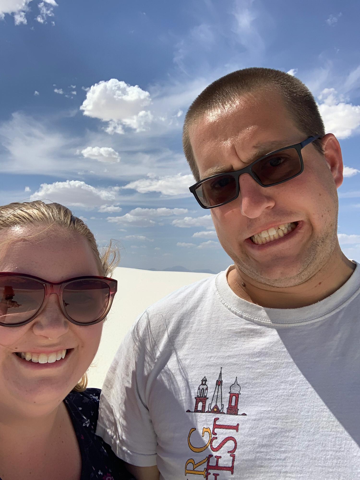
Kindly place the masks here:
[(204, 181), (197, 187), (195, 193), (201, 204), (206, 207), (224, 204), (236, 197), (236, 180), (232, 175), (221, 175)]

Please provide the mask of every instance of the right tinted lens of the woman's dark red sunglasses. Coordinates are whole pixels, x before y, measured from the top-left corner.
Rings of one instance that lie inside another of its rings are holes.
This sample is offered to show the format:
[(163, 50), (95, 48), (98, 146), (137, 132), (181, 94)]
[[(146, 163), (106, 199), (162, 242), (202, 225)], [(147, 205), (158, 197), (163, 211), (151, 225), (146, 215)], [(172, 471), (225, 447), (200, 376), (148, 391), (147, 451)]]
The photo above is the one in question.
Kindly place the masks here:
[(88, 324), (102, 317), (108, 310), (110, 288), (98, 279), (74, 280), (62, 292), (65, 312), (75, 322)]

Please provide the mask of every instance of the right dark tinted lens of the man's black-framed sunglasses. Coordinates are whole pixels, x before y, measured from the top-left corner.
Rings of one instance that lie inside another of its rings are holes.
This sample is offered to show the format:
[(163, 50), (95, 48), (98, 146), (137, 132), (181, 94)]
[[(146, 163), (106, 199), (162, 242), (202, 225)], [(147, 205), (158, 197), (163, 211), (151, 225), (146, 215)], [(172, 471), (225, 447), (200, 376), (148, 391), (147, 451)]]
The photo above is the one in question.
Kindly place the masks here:
[(252, 167), (252, 172), (263, 185), (272, 185), (273, 183), (288, 180), (300, 173), (300, 171), (300, 157), (295, 148), (289, 148), (288, 150), (267, 156)]

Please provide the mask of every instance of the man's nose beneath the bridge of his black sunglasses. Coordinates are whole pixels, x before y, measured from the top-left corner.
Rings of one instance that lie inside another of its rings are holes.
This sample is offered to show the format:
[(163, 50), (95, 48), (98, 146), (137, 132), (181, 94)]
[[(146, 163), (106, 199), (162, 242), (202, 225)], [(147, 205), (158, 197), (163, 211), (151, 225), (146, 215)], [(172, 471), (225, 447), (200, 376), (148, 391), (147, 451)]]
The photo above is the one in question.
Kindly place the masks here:
[(249, 175), (243, 173), (239, 177), (241, 214), (248, 218), (257, 218), (266, 209), (275, 205), (275, 200), (268, 188), (264, 188)]

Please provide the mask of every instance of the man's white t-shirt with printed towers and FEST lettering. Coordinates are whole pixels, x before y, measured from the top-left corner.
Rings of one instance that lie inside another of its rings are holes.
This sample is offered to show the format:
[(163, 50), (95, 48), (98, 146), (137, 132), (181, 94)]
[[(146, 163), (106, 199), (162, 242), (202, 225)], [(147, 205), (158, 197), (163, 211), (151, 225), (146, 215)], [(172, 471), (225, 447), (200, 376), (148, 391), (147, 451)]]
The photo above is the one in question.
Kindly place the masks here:
[(303, 308), (242, 300), (227, 271), (158, 301), (110, 367), (96, 433), (165, 480), (360, 478), (359, 264)]

